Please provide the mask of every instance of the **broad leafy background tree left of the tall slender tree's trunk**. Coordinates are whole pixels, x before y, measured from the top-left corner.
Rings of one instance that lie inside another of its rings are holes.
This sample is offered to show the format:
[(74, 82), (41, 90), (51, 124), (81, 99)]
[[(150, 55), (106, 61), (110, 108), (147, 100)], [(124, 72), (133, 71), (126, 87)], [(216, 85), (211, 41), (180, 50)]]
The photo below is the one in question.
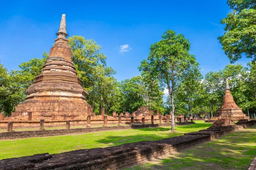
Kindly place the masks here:
[(133, 77), (119, 83), (120, 108), (118, 111), (132, 113), (139, 107), (147, 106), (149, 110), (164, 113), (163, 92), (157, 81), (151, 81), (146, 77)]

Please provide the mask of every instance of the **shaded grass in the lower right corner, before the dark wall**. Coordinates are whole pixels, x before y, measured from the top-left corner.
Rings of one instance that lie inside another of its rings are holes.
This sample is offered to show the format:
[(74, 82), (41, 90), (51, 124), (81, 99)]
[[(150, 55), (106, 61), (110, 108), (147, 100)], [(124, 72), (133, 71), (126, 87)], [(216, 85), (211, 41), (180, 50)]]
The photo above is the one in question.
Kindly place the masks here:
[(256, 125), (126, 170), (247, 170), (256, 156)]

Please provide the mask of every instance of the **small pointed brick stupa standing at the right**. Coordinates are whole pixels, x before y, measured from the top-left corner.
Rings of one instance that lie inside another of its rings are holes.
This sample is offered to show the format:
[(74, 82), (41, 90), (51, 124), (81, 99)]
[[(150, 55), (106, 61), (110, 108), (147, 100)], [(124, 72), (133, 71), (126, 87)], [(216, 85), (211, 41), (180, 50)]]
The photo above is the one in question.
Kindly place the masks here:
[(230, 93), (228, 79), (226, 79), (226, 89), (223, 96), (222, 106), (217, 110), (217, 114), (211, 119), (214, 120), (218, 118), (230, 118), (232, 120), (249, 119), (249, 117), (242, 112), (242, 109), (234, 102), (233, 96)]

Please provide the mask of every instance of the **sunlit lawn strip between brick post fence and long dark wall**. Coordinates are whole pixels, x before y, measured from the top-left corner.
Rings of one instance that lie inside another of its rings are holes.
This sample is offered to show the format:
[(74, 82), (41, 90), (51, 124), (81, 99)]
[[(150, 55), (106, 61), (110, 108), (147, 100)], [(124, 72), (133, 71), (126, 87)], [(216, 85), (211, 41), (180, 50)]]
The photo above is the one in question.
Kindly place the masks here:
[(176, 126), (175, 133), (168, 132), (171, 127), (157, 127), (4, 140), (0, 141), (0, 159), (29, 156), (37, 153), (53, 154), (78, 149), (109, 147), (146, 140), (155, 141), (206, 129), (211, 126), (210, 123), (204, 123), (204, 121), (195, 122), (196, 124), (193, 125)]

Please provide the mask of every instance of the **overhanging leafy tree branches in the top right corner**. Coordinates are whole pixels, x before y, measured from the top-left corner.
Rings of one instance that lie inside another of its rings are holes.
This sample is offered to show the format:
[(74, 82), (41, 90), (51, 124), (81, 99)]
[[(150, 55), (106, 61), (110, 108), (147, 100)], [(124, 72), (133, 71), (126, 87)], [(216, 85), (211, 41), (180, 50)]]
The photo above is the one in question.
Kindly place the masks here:
[(256, 2), (253, 0), (228, 0), (234, 9), (221, 20), (225, 24), (225, 33), (218, 37), (230, 62), (234, 63), (245, 54), (256, 60)]

